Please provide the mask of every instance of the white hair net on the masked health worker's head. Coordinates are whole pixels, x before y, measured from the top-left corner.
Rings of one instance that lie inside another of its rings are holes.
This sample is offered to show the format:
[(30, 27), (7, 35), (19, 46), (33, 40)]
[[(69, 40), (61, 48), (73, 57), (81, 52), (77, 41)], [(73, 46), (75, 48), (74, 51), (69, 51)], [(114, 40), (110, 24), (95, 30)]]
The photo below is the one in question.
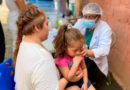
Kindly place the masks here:
[(84, 6), (82, 13), (85, 14), (97, 14), (102, 15), (102, 8), (96, 3), (88, 3)]

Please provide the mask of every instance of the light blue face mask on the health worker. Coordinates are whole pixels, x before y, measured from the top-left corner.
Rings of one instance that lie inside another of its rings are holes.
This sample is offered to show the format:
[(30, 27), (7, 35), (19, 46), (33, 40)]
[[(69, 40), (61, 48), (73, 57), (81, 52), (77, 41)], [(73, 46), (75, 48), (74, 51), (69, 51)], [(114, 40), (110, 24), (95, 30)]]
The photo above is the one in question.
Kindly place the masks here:
[(96, 26), (95, 20), (91, 19), (83, 19), (82, 25), (84, 28), (94, 29)]

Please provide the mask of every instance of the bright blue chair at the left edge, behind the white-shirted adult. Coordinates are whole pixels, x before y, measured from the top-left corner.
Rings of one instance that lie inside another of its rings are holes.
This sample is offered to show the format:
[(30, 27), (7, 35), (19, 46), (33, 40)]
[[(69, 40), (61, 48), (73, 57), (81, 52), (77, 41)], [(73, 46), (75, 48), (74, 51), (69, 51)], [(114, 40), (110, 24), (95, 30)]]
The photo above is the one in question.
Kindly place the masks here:
[(15, 90), (14, 68), (11, 58), (0, 64), (0, 90)]

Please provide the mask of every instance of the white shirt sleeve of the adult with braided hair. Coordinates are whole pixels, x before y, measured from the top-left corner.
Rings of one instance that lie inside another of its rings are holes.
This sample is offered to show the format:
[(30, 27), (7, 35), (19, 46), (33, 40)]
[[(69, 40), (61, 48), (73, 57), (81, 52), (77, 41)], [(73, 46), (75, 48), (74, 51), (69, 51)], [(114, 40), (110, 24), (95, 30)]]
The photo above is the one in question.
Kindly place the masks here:
[(35, 90), (58, 90), (58, 78), (52, 64), (44, 60), (36, 65), (31, 77)]

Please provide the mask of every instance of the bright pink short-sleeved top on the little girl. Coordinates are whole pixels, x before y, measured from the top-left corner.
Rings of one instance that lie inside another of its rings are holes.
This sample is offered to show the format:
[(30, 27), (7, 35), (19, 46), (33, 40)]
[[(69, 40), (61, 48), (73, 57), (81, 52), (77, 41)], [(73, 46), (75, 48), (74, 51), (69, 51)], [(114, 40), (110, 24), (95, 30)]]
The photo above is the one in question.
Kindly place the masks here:
[[(55, 59), (55, 64), (57, 66), (62, 66), (62, 67), (68, 67), (68, 68), (70, 68), (69, 64), (72, 63), (72, 59), (73, 59), (72, 57), (67, 56), (67, 55), (65, 55), (63, 57), (59, 56), (59, 57), (57, 57)], [(83, 57), (82, 61), (84, 61), (84, 57)]]

